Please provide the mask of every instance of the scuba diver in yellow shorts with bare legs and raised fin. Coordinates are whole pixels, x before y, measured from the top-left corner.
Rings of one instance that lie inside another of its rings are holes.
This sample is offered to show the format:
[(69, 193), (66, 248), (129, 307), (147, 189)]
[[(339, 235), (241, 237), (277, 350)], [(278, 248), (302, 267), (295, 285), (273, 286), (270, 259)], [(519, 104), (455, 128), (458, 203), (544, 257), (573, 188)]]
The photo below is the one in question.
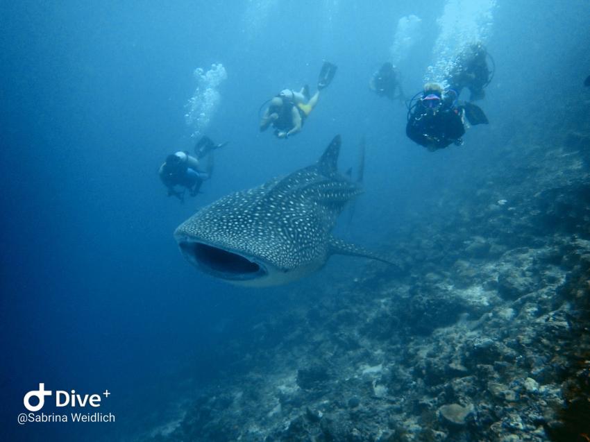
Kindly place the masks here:
[(305, 119), (314, 109), (319, 99), (319, 92), (332, 82), (336, 74), (336, 65), (323, 62), (317, 83), (317, 92), (310, 98), (309, 87), (305, 85), (301, 91), (291, 89), (280, 91), (269, 101), (269, 107), (260, 120), (260, 132), (273, 126), (274, 135), (278, 138), (289, 138), (289, 135), (298, 133)]

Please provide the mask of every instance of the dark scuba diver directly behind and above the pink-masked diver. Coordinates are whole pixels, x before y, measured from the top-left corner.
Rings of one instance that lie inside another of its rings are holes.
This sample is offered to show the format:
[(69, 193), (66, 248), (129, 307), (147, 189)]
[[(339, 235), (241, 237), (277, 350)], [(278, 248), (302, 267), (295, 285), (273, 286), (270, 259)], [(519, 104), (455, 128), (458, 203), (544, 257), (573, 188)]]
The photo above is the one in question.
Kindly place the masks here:
[[(493, 70), (487, 67), (487, 59), (490, 59)], [(451, 89), (461, 93), (466, 87), (471, 92), (470, 101), (484, 98), (484, 87), (489, 85), (494, 77), (494, 59), (491, 58), (481, 43), (471, 44), (465, 48), (455, 59), (455, 67), (451, 69), (447, 83)]]

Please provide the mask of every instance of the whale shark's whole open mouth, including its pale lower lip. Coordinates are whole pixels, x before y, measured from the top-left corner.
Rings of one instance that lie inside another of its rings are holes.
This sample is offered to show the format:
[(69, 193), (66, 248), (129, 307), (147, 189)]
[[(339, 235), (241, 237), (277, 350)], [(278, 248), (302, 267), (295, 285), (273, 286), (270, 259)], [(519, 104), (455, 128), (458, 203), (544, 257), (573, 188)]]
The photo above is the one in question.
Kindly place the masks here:
[(224, 248), (194, 241), (180, 241), (178, 246), (189, 262), (220, 278), (250, 280), (267, 274), (264, 266)]

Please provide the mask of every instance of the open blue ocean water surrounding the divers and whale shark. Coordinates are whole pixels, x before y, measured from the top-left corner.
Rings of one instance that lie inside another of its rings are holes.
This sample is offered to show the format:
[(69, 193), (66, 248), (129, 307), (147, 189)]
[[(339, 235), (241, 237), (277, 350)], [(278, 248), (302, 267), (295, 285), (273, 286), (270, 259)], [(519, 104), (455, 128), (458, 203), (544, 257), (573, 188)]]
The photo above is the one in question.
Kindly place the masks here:
[[(218, 378), (227, 362), (211, 349), (252, 316), (281, 311), (289, 286), (240, 289), (183, 260), (172, 232), (198, 207), (311, 164), (336, 134), (342, 169), (368, 141), (366, 194), (352, 226), (339, 229), (375, 250), (387, 252), (424, 194), (469, 186), (464, 171), (493, 156), (494, 123), (469, 130), (463, 148), (433, 154), (405, 137), (403, 103), (369, 91), (401, 18), (421, 21), (399, 60), (407, 94), (437, 61), (441, 29), (453, 40), (474, 23), (496, 64), (481, 102), (490, 121), (550, 112), (544, 95), (580, 88), (590, 74), (587, 1), (478, 1), (471, 15), (445, 10), (457, 1), (1, 3), (0, 439), (140, 434), (187, 389)], [(485, 22), (470, 22), (482, 10)], [(323, 60), (337, 76), (303, 132), (287, 141), (260, 133), (259, 106), (283, 87), (314, 90)], [(193, 71), (214, 63), (227, 79), (202, 131), (229, 144), (203, 194), (180, 204), (158, 167), (192, 149)], [(297, 284), (359, 271), (354, 260), (337, 263)], [(24, 393), (40, 382), (108, 389), (101, 411), (117, 422), (17, 425)]]

